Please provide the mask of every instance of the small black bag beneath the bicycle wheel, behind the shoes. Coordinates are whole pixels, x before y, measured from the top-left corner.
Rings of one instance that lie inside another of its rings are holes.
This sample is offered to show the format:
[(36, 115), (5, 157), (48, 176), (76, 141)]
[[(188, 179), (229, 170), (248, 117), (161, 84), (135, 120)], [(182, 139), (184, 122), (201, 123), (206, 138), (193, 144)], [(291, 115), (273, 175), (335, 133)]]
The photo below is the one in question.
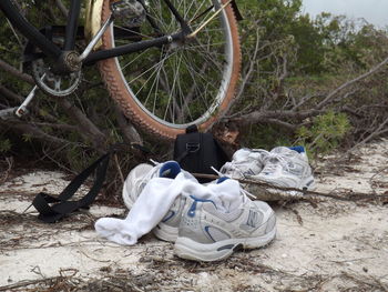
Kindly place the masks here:
[[(174, 160), (191, 173), (216, 174), (212, 167), (219, 170), (229, 158), (212, 133), (201, 133), (196, 125), (191, 125), (185, 134), (176, 137)], [(198, 181), (203, 183), (212, 179), (198, 178)]]

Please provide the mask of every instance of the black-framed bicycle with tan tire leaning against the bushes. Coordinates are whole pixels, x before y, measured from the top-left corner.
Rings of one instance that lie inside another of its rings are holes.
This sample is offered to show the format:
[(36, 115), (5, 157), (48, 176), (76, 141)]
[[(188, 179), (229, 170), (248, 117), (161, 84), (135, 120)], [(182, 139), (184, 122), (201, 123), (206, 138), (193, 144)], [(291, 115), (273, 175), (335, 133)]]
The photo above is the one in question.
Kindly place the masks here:
[(70, 1), (65, 26), (40, 29), (14, 1), (1, 0), (0, 9), (29, 40), (24, 60), (37, 84), (18, 115), (37, 89), (72, 94), (82, 69), (95, 63), (124, 114), (161, 138), (191, 124), (207, 130), (234, 98), (241, 49), (233, 0), (88, 0), (83, 32), (79, 0)]

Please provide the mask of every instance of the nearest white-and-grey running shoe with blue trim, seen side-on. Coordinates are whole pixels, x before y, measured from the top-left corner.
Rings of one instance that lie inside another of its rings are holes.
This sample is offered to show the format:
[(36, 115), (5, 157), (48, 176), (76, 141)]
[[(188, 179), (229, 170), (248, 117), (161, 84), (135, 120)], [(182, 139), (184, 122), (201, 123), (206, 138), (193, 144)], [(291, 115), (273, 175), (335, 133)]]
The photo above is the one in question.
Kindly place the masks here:
[(242, 195), (242, 205), (232, 212), (219, 211), (211, 200), (187, 198), (175, 254), (212, 262), (228, 258), (238, 248), (256, 249), (268, 244), (276, 235), (274, 211), (265, 202)]

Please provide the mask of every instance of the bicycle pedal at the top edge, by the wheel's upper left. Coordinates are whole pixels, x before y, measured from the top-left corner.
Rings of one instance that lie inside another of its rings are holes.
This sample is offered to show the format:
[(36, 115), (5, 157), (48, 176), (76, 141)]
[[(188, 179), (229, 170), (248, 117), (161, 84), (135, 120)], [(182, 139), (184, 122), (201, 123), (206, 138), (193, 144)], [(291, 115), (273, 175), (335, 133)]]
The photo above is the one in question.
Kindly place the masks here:
[(121, 20), (125, 27), (139, 27), (145, 20), (145, 9), (136, 0), (121, 0), (111, 3), (112, 14)]

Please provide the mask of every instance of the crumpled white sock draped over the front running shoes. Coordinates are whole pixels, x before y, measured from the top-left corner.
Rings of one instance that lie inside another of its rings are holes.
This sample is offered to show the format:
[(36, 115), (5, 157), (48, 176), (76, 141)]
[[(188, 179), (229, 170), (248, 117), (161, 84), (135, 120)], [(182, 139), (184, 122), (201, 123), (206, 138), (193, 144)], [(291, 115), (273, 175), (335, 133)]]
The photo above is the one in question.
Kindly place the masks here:
[(234, 180), (203, 185), (188, 180), (183, 173), (174, 180), (154, 178), (145, 185), (124, 220), (101, 218), (95, 222), (95, 230), (100, 235), (119, 244), (135, 244), (137, 239), (161, 222), (180, 194), (212, 200), (224, 212), (235, 210), (243, 200), (239, 184)]

